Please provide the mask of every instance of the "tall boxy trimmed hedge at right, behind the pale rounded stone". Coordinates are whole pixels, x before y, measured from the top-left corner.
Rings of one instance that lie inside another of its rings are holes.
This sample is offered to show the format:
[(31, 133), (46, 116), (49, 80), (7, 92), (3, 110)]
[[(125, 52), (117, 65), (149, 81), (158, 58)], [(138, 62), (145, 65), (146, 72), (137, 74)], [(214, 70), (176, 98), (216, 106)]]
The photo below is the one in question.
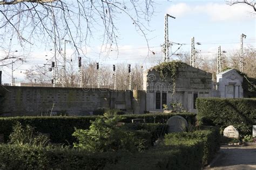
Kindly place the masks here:
[(198, 98), (197, 109), (201, 125), (218, 126), (221, 131), (233, 125), (244, 136), (252, 134), (256, 124), (256, 99)]

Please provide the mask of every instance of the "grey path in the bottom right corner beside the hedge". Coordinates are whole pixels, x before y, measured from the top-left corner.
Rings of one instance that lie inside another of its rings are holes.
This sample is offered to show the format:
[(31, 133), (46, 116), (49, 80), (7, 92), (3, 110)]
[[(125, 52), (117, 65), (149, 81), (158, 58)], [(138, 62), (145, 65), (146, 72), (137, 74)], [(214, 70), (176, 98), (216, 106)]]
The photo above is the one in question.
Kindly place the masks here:
[(210, 166), (205, 169), (256, 169), (256, 146), (222, 146)]

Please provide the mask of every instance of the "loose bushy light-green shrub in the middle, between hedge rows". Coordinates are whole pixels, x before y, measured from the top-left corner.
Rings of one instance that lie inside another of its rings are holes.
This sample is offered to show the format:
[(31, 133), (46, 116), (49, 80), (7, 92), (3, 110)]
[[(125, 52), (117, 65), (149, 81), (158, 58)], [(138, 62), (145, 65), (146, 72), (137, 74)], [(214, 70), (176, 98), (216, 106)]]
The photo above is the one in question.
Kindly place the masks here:
[(107, 152), (125, 150), (142, 151), (150, 145), (150, 133), (146, 131), (127, 131), (119, 127), (122, 118), (97, 118), (92, 122), (90, 130), (76, 129), (73, 133), (78, 139), (74, 147), (88, 152)]

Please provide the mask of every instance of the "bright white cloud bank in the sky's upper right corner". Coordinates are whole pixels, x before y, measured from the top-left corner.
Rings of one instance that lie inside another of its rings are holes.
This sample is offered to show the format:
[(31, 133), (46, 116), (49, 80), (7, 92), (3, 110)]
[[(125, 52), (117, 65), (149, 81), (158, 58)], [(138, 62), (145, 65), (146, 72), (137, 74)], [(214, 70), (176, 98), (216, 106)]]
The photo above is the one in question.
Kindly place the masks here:
[(212, 21), (241, 21), (255, 18), (255, 12), (248, 5), (227, 5), (219, 3), (207, 3), (202, 5), (187, 5), (178, 3), (171, 5), (167, 10), (170, 15), (182, 17), (186, 15), (206, 14)]

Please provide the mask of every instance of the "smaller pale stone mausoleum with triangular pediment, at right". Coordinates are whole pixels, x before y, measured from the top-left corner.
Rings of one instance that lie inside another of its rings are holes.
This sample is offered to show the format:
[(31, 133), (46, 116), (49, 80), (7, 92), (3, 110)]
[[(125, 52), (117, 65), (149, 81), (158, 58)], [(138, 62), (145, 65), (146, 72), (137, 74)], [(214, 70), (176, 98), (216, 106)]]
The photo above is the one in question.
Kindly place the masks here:
[(214, 83), (213, 97), (244, 98), (243, 77), (235, 69), (226, 70), (216, 76), (217, 83)]

